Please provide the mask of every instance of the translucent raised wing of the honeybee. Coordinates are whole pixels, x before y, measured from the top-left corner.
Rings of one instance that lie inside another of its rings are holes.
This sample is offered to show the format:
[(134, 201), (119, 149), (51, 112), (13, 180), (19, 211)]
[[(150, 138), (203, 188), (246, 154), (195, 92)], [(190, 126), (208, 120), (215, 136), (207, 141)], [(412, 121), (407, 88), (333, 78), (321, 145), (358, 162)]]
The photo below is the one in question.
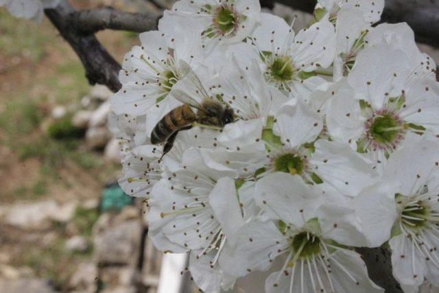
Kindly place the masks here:
[(206, 89), (204, 89), (200, 79), (195, 72), (193, 72), (191, 67), (184, 61), (180, 60), (180, 62), (183, 76), (172, 86), (172, 95), (183, 104), (187, 104), (199, 110), (205, 110), (202, 106), (202, 101), (206, 97), (209, 98)]

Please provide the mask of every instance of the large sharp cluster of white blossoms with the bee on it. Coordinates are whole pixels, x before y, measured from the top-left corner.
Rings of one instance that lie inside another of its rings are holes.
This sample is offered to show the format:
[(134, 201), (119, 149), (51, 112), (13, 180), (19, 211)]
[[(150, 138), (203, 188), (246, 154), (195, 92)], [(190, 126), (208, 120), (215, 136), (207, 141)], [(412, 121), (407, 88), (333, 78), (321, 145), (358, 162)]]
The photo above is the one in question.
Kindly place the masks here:
[(257, 0), (181, 0), (126, 54), (119, 184), (204, 292), (266, 270), (265, 292), (383, 292), (355, 252), (381, 245), (405, 292), (439, 285), (436, 65), (372, 26), (383, 6), (319, 0), (294, 32)]

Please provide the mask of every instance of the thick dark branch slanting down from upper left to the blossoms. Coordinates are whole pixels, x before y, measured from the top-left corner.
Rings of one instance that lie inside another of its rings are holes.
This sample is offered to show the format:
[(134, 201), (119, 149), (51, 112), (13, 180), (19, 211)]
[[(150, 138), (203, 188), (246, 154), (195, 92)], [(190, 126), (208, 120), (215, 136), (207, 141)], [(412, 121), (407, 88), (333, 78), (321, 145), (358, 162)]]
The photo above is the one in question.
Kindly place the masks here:
[(121, 66), (102, 47), (94, 34), (86, 34), (72, 25), (71, 19), (75, 13), (76, 10), (65, 0), (60, 1), (56, 8), (45, 10), (46, 16), (78, 54), (88, 82), (105, 84), (112, 91), (118, 91), (121, 88), (118, 78)]

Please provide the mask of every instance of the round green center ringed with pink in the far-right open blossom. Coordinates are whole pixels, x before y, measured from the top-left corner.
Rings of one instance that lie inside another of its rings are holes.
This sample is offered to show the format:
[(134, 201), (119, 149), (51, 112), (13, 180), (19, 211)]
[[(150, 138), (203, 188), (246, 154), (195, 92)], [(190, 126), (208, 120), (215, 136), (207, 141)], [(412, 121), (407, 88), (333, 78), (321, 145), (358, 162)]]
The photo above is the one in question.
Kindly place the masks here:
[(370, 126), (370, 135), (378, 143), (392, 143), (396, 140), (401, 130), (403, 130), (401, 122), (393, 115), (386, 113), (375, 117)]

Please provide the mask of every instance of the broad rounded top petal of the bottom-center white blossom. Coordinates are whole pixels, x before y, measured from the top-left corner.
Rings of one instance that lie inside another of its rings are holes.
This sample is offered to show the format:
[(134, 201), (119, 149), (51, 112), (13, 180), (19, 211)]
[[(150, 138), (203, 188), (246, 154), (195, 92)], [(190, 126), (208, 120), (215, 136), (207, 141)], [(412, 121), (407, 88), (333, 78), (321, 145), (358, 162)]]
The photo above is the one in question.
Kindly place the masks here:
[(314, 188), (300, 176), (276, 172), (257, 181), (254, 198), (272, 219), (302, 226), (316, 217), (322, 204), (322, 195)]

